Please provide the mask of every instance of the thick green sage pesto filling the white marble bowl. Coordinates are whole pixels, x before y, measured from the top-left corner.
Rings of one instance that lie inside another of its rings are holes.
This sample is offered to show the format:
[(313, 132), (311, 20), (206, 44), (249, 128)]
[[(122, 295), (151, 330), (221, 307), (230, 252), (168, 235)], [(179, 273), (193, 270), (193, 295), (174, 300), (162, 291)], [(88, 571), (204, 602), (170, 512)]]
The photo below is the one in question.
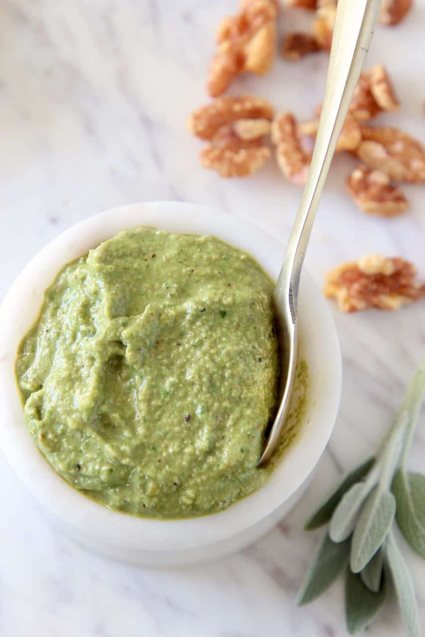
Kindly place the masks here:
[[(272, 289), (221, 240), (144, 227), (65, 266), (16, 362), (26, 425), (52, 468), (109, 508), (163, 519), (262, 487), (279, 376)], [(301, 365), (281, 448), (305, 387)]]

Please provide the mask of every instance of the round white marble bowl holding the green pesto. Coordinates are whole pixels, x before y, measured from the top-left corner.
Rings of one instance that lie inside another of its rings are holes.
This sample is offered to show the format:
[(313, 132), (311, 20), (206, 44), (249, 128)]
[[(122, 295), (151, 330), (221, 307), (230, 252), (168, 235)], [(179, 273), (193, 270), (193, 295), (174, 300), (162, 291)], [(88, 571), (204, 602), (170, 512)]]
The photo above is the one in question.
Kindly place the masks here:
[(271, 529), (302, 496), (336, 419), (341, 355), (327, 304), (304, 273), (299, 332), (300, 354), (310, 376), (308, 406), (301, 434), (262, 489), (223, 512), (185, 520), (132, 517), (78, 493), (50, 468), (26, 429), (14, 374), (17, 347), (38, 317), (43, 292), (59, 269), (118, 231), (138, 225), (172, 233), (214, 234), (249, 252), (274, 278), (283, 258), (283, 246), (269, 234), (197, 204), (124, 206), (88, 218), (61, 234), (22, 271), (0, 308), (0, 445), (54, 522), (80, 543), (135, 564), (190, 564), (245, 547)]

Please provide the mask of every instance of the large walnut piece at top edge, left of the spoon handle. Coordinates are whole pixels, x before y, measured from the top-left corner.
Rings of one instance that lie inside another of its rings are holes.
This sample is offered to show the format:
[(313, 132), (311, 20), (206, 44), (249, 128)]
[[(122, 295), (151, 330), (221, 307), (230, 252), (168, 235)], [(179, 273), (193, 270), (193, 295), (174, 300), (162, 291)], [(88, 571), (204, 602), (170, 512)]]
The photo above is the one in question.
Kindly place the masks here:
[(276, 52), (278, 0), (242, 0), (239, 13), (221, 20), (207, 89), (221, 95), (241, 73), (264, 75)]

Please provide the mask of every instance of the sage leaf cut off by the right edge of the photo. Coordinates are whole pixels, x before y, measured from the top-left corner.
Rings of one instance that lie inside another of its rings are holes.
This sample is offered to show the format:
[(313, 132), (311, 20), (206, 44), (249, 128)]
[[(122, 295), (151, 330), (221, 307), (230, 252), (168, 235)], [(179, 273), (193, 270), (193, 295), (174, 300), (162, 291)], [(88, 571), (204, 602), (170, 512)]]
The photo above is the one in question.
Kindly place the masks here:
[(398, 469), (392, 481), (398, 527), (410, 547), (425, 559), (425, 476)]

